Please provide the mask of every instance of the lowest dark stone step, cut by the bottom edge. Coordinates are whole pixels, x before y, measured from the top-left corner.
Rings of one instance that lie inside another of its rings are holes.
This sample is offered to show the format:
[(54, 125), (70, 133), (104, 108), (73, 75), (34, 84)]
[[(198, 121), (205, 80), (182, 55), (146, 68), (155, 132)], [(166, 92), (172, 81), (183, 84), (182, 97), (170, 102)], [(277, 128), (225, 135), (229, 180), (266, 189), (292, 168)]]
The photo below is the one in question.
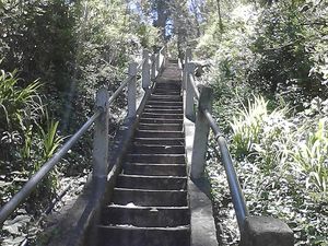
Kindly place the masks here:
[(190, 227), (98, 225), (98, 246), (190, 246)]

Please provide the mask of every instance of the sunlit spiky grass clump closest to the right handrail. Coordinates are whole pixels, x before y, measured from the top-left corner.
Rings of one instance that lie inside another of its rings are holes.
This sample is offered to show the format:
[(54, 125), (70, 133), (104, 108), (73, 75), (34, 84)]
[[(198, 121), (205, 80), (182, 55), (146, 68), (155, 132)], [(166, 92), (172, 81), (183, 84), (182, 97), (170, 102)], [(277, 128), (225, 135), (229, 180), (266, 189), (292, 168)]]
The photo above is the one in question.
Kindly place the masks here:
[(269, 112), (268, 102), (261, 96), (248, 99), (233, 116), (233, 152), (236, 157), (260, 156), (263, 166), (272, 167), (273, 163), (284, 156), (283, 145), (279, 141), (290, 132), (290, 124), (285, 120), (288, 107)]

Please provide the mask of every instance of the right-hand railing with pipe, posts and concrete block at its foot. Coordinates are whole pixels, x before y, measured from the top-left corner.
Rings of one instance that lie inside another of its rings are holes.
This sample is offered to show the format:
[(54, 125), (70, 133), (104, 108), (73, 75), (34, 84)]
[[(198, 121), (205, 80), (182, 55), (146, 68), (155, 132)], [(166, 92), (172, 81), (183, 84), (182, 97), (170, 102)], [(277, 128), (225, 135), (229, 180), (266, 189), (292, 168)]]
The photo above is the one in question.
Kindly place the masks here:
[[(195, 121), (195, 137), (191, 155), (191, 178), (203, 176), (206, 153), (210, 129), (219, 145), (221, 161), (225, 169), (226, 179), (241, 231), (241, 245), (263, 246), (268, 242), (277, 246), (293, 245), (293, 232), (280, 220), (266, 216), (249, 216), (244, 195), (236, 175), (226, 141), (215, 122), (212, 109), (212, 90), (195, 83), (195, 63), (191, 60), (191, 50), (187, 49), (183, 71), (183, 87), (185, 89), (185, 115)], [(195, 102), (198, 103), (195, 110)], [(218, 151), (218, 150), (216, 150)], [(260, 226), (259, 226), (260, 225)]]

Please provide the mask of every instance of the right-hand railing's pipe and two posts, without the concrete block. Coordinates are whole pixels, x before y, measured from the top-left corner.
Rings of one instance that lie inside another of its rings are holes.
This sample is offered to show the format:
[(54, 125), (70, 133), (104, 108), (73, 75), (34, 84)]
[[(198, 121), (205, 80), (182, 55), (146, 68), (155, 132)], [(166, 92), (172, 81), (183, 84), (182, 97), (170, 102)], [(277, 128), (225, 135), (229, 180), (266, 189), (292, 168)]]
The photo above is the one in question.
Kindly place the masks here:
[[(186, 52), (187, 56), (191, 54), (189, 51)], [(226, 141), (220, 131), (219, 126), (216, 125), (212, 114), (211, 114), (211, 89), (201, 86), (200, 91), (195, 83), (194, 71), (195, 65), (191, 61), (191, 57), (187, 57), (185, 61), (184, 68), (184, 87), (186, 89), (186, 117), (190, 120), (196, 120), (196, 130), (195, 130), (195, 139), (202, 141), (194, 141), (192, 148), (192, 157), (191, 157), (191, 177), (200, 178), (204, 171), (206, 164), (206, 151), (204, 147), (208, 143), (208, 136), (210, 128), (214, 133), (214, 139), (218, 142), (222, 163), (224, 165), (232, 201), (234, 204), (234, 209), (236, 212), (236, 218), (238, 222), (239, 230), (244, 229), (244, 222), (246, 216), (248, 215), (248, 210), (246, 208), (246, 202), (242, 192), (242, 188), (233, 166), (232, 157), (230, 155)], [(195, 101), (198, 103), (198, 112), (195, 112)], [(199, 151), (203, 150), (203, 151)], [(198, 163), (198, 165), (195, 165)], [(202, 163), (202, 165), (199, 165)]]

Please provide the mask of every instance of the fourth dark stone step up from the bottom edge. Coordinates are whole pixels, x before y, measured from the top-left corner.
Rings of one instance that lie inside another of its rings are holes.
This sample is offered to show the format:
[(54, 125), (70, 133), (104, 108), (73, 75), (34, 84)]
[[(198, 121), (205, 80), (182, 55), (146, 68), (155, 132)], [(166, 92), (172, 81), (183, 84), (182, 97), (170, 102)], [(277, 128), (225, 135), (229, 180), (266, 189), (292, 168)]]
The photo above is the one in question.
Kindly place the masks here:
[[(133, 164), (130, 164), (130, 166)], [(139, 164), (140, 165), (140, 164)], [(157, 165), (161, 166), (161, 165)], [(164, 165), (167, 167), (167, 165)], [(157, 167), (155, 167), (157, 168)], [(173, 167), (174, 169), (175, 167)], [(159, 168), (162, 171), (161, 168)], [(126, 172), (128, 171), (128, 172)], [(145, 173), (143, 169), (139, 173)], [(179, 171), (181, 175), (186, 175), (186, 166), (184, 172)], [(120, 174), (117, 178), (117, 188), (134, 188), (134, 189), (150, 189), (150, 190), (181, 190), (187, 189), (187, 178), (186, 177), (177, 177), (177, 176), (144, 176), (145, 174), (141, 175), (131, 175), (130, 173), (137, 172), (129, 172), (128, 169), (124, 169), (125, 174)], [(164, 171), (163, 171), (164, 173)], [(177, 175), (177, 174), (175, 174)]]

